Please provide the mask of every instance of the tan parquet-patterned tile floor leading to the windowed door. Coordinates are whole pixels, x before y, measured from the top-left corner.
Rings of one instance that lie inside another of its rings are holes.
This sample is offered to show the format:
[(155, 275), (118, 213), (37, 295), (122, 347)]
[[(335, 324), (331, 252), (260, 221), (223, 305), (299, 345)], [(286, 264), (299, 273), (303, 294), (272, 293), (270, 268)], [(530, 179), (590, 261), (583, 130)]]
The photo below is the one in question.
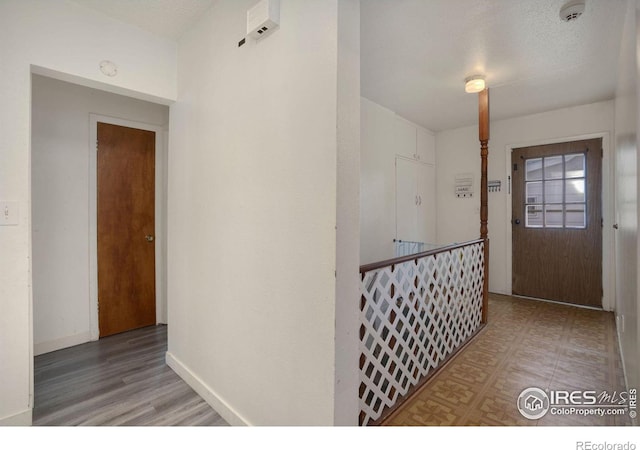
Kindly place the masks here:
[(523, 417), (528, 387), (625, 391), (613, 313), (491, 294), (487, 326), (385, 425), (631, 425), (628, 415)]

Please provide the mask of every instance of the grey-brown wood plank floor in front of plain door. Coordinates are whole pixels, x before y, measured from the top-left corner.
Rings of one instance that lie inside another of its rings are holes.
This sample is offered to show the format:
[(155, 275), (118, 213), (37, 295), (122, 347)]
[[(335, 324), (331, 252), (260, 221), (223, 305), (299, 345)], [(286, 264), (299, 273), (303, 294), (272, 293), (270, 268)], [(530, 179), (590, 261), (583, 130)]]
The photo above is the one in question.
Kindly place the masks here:
[(167, 327), (35, 358), (34, 425), (228, 425), (165, 364)]

